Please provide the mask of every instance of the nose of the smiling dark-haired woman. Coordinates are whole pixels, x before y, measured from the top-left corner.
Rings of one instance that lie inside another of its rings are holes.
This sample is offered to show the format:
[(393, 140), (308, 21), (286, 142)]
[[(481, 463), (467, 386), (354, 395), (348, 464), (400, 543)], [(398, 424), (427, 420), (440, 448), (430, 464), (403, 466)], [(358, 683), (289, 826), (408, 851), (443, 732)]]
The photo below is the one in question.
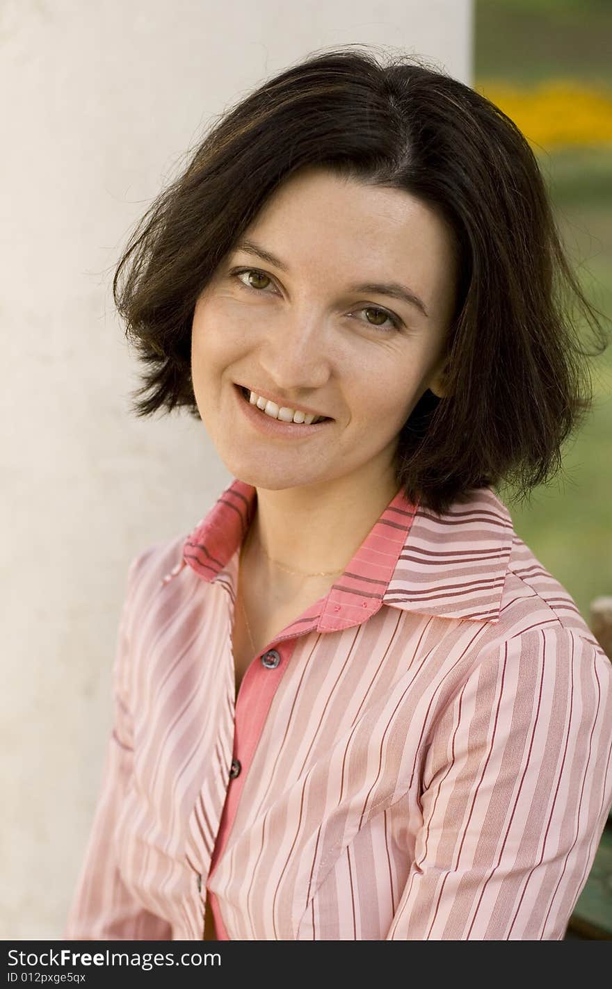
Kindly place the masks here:
[(272, 320), (264, 334), (259, 352), (263, 378), (279, 392), (322, 388), (332, 368), (325, 320), (320, 314), (303, 311), (283, 316)]

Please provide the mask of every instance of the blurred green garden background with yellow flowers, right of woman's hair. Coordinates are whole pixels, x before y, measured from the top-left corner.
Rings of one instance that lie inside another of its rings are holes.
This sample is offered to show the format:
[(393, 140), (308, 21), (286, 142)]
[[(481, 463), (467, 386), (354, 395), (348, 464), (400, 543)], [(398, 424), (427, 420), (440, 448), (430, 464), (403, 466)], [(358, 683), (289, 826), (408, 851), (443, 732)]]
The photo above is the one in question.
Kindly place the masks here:
[[(612, 336), (612, 0), (475, 0), (474, 19), (473, 88), (530, 141), (567, 254)], [(498, 491), (587, 621), (591, 601), (612, 594), (612, 344), (590, 368), (593, 410), (560, 474), (529, 501)]]

